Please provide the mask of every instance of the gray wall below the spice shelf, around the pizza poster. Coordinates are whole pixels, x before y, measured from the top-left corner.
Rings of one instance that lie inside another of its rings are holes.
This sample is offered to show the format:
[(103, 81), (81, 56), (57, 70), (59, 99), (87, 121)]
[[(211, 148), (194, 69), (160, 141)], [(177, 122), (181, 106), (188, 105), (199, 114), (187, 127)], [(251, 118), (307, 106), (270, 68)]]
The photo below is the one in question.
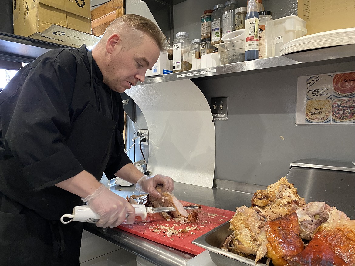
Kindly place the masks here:
[[(228, 96), (215, 121), (215, 178), (268, 185), (303, 158), (355, 160), (355, 125), (295, 126), (297, 77), (354, 70), (354, 62), (192, 80), (206, 96)], [(280, 138), (284, 137), (284, 140)]]

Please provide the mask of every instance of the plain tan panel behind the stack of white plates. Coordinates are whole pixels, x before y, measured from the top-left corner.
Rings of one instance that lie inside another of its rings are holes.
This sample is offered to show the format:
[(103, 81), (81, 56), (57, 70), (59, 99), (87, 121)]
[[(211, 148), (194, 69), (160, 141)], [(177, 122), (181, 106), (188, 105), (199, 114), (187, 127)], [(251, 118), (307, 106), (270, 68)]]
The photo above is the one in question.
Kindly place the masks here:
[(307, 35), (355, 27), (355, 1), (298, 0), (297, 15), (307, 24)]

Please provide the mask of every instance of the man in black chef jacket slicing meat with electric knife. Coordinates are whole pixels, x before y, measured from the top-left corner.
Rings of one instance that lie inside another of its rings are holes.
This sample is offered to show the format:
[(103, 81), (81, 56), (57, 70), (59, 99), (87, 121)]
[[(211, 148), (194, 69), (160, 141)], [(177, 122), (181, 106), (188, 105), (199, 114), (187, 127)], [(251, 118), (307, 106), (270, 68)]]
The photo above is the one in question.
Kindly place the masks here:
[(87, 202), (98, 227), (135, 210), (98, 182), (103, 172), (159, 196), (173, 179), (143, 174), (124, 152), (120, 92), (143, 82), (168, 45), (150, 20), (116, 19), (91, 51), (55, 49), (0, 93), (0, 265), (79, 265), (82, 223), (59, 222)]

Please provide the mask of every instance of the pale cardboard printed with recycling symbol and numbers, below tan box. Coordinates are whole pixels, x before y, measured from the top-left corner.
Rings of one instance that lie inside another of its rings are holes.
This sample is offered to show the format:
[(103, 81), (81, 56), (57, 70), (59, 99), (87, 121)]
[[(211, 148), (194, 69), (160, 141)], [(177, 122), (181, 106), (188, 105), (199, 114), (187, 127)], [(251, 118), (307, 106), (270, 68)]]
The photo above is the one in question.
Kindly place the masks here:
[(59, 25), (51, 25), (45, 31), (41, 33), (36, 32), (29, 37), (75, 48), (79, 48), (83, 44), (86, 44), (90, 48), (90, 46), (94, 46), (100, 40), (100, 37)]

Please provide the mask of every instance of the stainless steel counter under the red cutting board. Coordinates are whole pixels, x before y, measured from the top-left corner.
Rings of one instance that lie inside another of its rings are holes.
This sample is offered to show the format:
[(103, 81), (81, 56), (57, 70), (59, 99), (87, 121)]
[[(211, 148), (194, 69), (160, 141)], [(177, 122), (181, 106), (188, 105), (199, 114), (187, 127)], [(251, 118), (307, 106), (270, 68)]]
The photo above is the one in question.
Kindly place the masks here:
[[(260, 189), (260, 186), (256, 186), (256, 188)], [(119, 189), (121, 189), (121, 191)], [(133, 185), (130, 187), (113, 185), (111, 191), (124, 198), (127, 195), (140, 194), (135, 190)], [(250, 201), (253, 196), (252, 193), (219, 188), (211, 189), (178, 182), (175, 182), (174, 195), (179, 200), (230, 211), (235, 211), (237, 206), (250, 206)], [(94, 224), (87, 223), (84, 229), (158, 266), (186, 266), (186, 262), (194, 257), (191, 254), (138, 237), (118, 228), (102, 229), (97, 228)]]

